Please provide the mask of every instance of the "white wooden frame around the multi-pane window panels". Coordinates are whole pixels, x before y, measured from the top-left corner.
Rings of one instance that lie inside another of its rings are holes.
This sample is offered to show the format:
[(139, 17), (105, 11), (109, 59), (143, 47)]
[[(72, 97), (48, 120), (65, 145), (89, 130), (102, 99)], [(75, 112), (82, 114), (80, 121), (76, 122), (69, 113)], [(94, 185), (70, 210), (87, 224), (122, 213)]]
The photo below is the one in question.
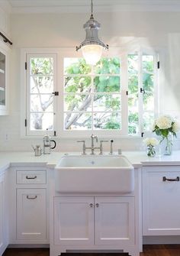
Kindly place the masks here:
[[(94, 131), (99, 138), (140, 138), (141, 133), (143, 133), (143, 127), (141, 126), (142, 122), (142, 112), (139, 109), (139, 124), (140, 124), (140, 134), (130, 135), (128, 134), (128, 102), (127, 102), (127, 90), (128, 90), (128, 80), (127, 80), (127, 54), (138, 52), (142, 54), (153, 53), (156, 54), (156, 51), (149, 49), (143, 49), (137, 47), (136, 49), (130, 50), (127, 48), (114, 47), (104, 53), (104, 57), (120, 57), (121, 59), (121, 119), (124, 122), (121, 122), (121, 131), (115, 130), (105, 130), (105, 131)], [(49, 54), (56, 54), (56, 91), (59, 92), (59, 96), (55, 97), (55, 109), (54, 109), (54, 131), (56, 131), (56, 138), (88, 138), (92, 131), (64, 131), (63, 130), (63, 57), (82, 57), (82, 53), (76, 52), (74, 47), (56, 47), (56, 48), (24, 48), (21, 49), (21, 138), (40, 138), (46, 131), (31, 131), (28, 132), (27, 128), (24, 125), (25, 119), (27, 119), (27, 72), (24, 69), (24, 63), (27, 60), (27, 54), (43, 54), (47, 56)], [(142, 69), (141, 69), (142, 72)], [(142, 75), (142, 74), (141, 74)], [(140, 79), (140, 78), (139, 78)], [(157, 76), (157, 82), (159, 76)], [(139, 81), (140, 82), (140, 81)], [(142, 82), (142, 81), (141, 81)], [(139, 83), (139, 87), (140, 84)], [(157, 83), (156, 83), (157, 85)], [(158, 86), (156, 86), (156, 99), (155, 104), (158, 104), (159, 94)], [(142, 93), (140, 93), (142, 98)], [(25, 107), (26, 106), (26, 107)], [(139, 103), (139, 108), (141, 108), (141, 103)], [(156, 108), (155, 115), (158, 115), (159, 107)], [(54, 135), (54, 133), (51, 133)]]

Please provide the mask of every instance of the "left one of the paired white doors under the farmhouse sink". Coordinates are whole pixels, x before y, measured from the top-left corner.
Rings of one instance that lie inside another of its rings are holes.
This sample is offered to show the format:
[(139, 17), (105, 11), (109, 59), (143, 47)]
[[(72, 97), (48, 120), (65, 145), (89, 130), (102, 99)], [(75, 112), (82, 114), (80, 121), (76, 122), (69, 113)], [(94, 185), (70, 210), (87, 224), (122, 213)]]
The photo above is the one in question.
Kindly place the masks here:
[(94, 244), (94, 198), (54, 198), (55, 245)]

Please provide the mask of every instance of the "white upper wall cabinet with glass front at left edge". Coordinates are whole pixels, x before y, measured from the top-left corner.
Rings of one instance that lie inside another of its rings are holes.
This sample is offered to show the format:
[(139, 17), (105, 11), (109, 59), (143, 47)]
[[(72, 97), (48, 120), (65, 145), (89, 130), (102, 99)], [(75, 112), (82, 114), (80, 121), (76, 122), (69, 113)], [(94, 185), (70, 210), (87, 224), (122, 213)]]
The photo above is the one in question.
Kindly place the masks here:
[(8, 115), (9, 48), (0, 42), (0, 115)]

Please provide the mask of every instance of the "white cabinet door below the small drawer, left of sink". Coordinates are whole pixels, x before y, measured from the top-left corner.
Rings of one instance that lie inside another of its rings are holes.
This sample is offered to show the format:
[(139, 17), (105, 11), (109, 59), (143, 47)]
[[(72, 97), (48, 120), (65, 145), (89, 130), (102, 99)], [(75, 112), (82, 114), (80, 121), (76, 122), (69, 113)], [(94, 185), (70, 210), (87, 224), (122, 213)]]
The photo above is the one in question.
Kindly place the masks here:
[(17, 238), (47, 238), (46, 189), (17, 190)]

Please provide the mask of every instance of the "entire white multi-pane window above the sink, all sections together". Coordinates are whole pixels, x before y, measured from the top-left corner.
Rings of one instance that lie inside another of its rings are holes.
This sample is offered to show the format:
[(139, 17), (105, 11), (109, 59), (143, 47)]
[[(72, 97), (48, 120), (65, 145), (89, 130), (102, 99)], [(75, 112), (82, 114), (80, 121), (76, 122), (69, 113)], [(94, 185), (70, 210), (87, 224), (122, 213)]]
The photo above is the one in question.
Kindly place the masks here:
[(24, 135), (140, 136), (157, 106), (157, 53), (124, 51), (89, 66), (70, 50), (26, 53)]

